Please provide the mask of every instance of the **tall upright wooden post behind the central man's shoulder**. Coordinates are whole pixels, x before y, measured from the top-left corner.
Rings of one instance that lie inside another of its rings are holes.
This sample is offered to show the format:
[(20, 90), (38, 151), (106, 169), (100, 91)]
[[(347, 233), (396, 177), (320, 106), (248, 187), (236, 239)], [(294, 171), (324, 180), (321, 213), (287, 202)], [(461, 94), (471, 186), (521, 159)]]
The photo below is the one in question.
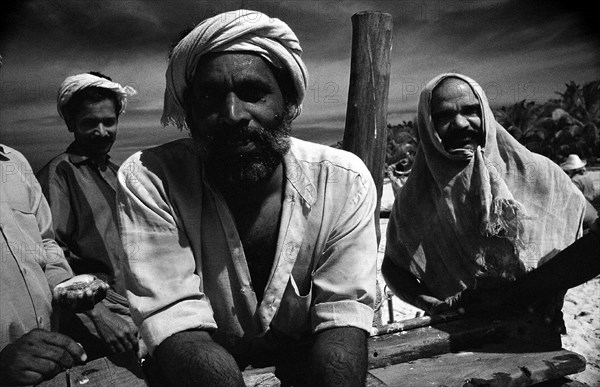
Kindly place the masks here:
[(359, 12), (352, 16), (352, 60), (343, 147), (364, 161), (375, 181), (377, 243), (381, 239), (379, 208), (383, 193), (391, 50), (390, 14)]

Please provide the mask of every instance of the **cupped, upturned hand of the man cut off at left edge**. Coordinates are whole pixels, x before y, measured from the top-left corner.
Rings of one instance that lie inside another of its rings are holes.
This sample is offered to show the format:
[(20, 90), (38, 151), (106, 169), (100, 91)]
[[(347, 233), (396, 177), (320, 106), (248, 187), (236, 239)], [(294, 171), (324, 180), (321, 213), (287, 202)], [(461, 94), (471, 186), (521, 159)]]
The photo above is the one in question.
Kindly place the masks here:
[(64, 281), (54, 288), (52, 298), (59, 305), (68, 306), (74, 312), (90, 310), (101, 301), (109, 285), (91, 274), (81, 274)]

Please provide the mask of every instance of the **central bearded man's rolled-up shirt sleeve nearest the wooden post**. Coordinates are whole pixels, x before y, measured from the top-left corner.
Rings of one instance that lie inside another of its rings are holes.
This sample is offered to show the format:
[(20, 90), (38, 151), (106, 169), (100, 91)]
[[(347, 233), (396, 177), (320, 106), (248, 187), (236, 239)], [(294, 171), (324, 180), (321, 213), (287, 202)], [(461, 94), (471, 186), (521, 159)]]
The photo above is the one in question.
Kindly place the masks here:
[[(366, 168), (365, 168), (366, 171)], [(313, 277), (313, 332), (352, 326), (370, 331), (376, 289), (375, 185), (358, 175)]]

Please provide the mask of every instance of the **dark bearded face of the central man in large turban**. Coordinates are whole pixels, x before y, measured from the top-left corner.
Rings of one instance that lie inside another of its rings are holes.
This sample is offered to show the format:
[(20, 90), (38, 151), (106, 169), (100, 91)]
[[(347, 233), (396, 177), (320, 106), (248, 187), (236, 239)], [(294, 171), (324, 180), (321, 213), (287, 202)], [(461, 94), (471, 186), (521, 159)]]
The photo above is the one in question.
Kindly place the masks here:
[(198, 64), (187, 102), (209, 173), (225, 184), (271, 176), (289, 149), (289, 122), (271, 69), (256, 55), (211, 55)]

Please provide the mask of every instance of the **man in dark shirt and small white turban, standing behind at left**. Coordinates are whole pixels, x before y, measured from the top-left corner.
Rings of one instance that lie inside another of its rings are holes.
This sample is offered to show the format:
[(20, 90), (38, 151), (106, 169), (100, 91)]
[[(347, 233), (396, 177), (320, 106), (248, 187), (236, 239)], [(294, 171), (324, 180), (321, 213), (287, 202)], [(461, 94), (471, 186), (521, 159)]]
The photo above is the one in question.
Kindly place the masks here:
[(120, 383), (145, 385), (137, 351), (137, 329), (120, 270), (125, 251), (118, 232), (118, 165), (110, 160), (119, 116), (135, 90), (90, 72), (67, 77), (57, 98), (58, 113), (75, 139), (38, 173), (52, 210), (56, 241), (76, 274), (90, 273), (110, 284), (92, 310), (65, 316), (61, 329), (81, 342), (90, 359), (109, 356), (123, 367)]

